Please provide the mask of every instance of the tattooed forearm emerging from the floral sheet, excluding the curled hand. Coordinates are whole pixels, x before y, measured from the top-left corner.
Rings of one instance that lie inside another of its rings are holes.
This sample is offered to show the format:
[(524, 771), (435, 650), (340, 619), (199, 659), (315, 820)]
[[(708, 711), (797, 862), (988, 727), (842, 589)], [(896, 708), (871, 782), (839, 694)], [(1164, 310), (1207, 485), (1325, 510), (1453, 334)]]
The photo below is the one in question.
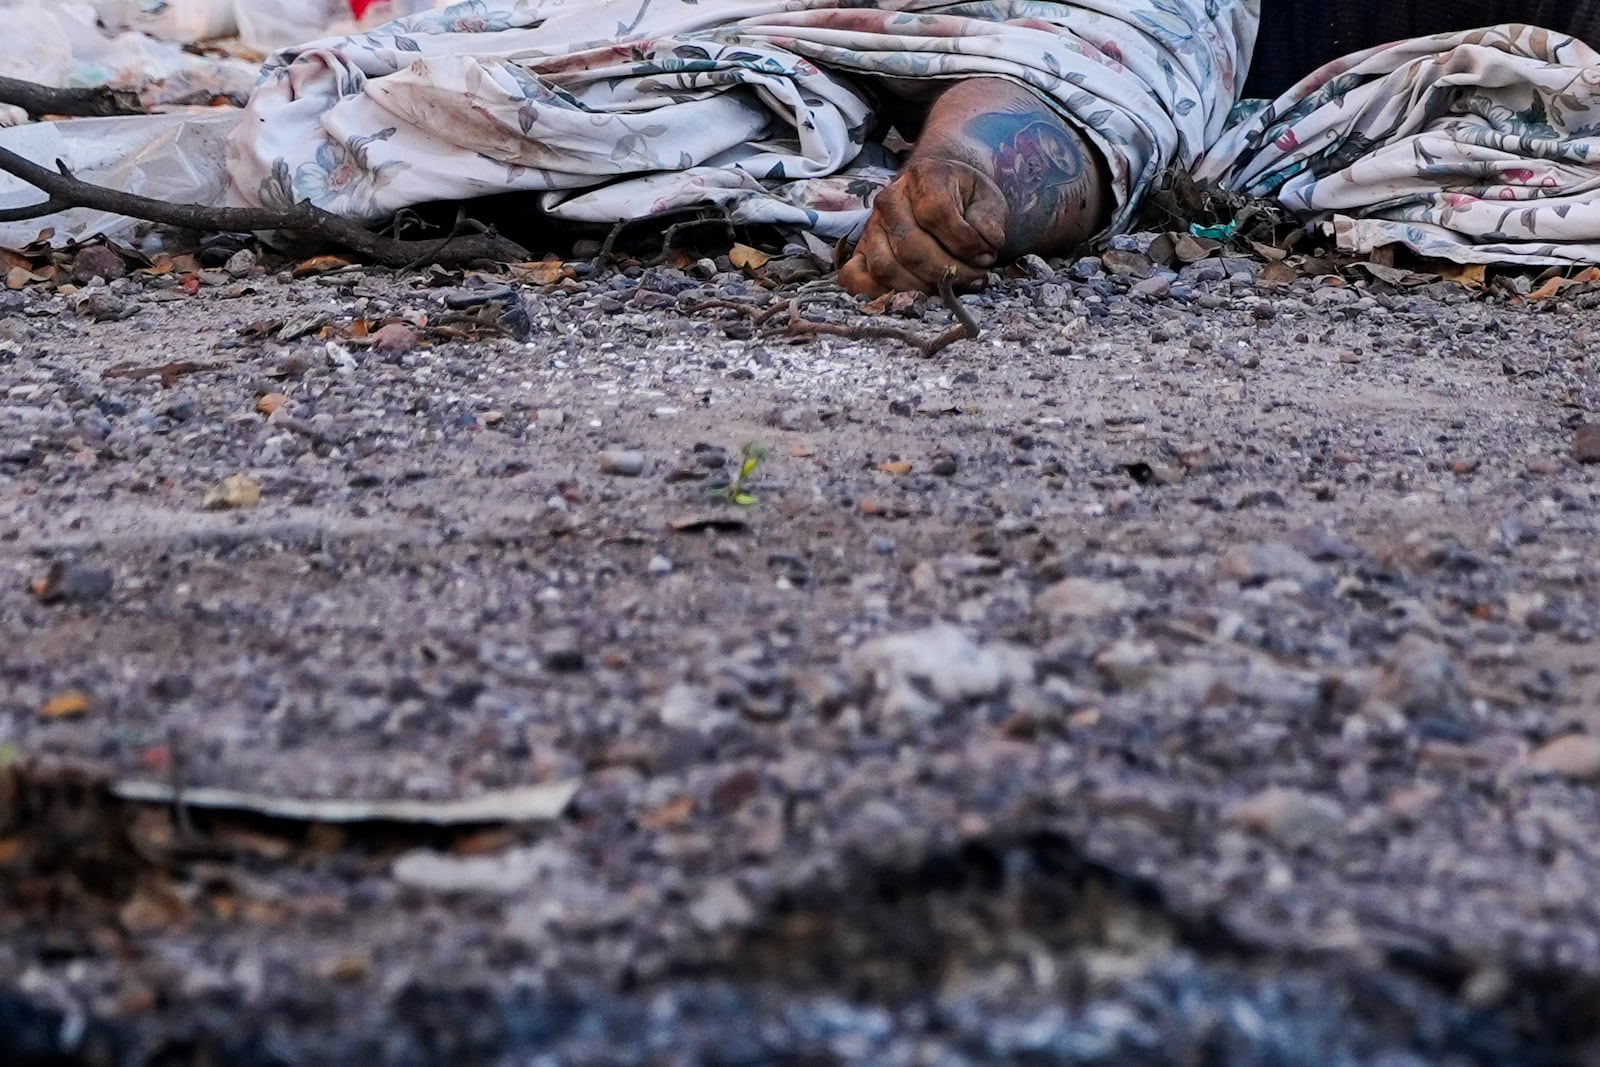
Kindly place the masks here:
[(914, 158), (960, 160), (1006, 203), (1002, 259), (1075, 248), (1112, 213), (1101, 154), (1050, 104), (1003, 78), (960, 82), (934, 101)]

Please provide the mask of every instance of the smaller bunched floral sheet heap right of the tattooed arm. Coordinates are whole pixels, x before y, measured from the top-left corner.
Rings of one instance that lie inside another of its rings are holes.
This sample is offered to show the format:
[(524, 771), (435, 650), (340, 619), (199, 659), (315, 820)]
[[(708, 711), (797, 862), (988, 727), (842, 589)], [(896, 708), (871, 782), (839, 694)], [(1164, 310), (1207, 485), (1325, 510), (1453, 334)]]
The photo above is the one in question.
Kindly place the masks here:
[(1374, 48), (1307, 77), (1195, 170), (1331, 216), (1352, 251), (1600, 262), (1600, 54), (1533, 26)]

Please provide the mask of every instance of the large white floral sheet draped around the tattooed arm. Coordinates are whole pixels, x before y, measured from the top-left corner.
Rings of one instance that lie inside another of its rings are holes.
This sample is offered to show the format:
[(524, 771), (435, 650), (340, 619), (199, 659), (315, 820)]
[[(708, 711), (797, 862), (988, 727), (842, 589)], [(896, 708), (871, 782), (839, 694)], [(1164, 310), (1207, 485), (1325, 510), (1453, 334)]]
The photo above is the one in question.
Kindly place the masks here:
[(842, 237), (896, 98), (1024, 82), (1112, 162), (1120, 221), (1221, 133), (1259, 0), (470, 0), (277, 56), (229, 170), (246, 203), (381, 218), (506, 190), (597, 222), (722, 205)]

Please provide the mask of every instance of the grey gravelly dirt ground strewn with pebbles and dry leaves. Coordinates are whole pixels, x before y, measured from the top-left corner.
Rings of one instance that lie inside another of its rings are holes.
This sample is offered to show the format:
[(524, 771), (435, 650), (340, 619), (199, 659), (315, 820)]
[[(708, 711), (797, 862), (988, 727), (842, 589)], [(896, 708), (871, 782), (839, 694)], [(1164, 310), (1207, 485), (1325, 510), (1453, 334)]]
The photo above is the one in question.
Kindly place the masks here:
[(0, 293), (10, 1062), (1600, 1062), (1597, 314), (702, 274)]

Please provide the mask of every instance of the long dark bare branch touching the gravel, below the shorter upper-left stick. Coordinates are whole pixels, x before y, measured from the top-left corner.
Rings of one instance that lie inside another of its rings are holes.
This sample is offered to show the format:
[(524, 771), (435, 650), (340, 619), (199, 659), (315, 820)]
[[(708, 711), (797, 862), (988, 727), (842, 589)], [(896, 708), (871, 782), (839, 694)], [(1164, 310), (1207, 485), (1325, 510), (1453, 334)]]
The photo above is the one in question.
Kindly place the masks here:
[(341, 245), (384, 267), (408, 267), (432, 254), (442, 266), (475, 262), (520, 262), (528, 250), (493, 232), (435, 240), (397, 240), (374, 234), (355, 219), (330, 214), (310, 203), (293, 208), (213, 208), (198, 203), (168, 203), (107, 189), (74, 178), (62, 163), (53, 171), (8, 149), (0, 149), (0, 171), (21, 178), (46, 195), (26, 208), (0, 211), (0, 222), (21, 222), (54, 214), (66, 208), (93, 208), (146, 222), (210, 232), (291, 230)]

